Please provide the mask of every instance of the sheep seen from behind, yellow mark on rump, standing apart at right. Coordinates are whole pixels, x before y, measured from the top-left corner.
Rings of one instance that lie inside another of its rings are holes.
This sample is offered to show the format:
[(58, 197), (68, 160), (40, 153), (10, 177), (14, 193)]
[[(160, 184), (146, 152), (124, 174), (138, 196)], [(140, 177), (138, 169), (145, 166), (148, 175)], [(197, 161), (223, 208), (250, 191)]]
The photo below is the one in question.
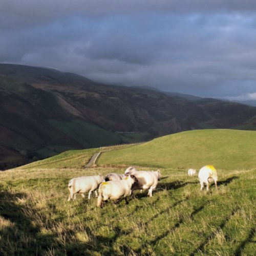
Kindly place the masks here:
[(214, 181), (215, 187), (217, 188), (217, 170), (213, 165), (205, 165), (203, 166), (198, 173), (198, 178), (201, 184), (200, 190), (203, 190), (204, 188), (204, 183), (206, 184), (206, 190), (209, 190), (209, 183)]

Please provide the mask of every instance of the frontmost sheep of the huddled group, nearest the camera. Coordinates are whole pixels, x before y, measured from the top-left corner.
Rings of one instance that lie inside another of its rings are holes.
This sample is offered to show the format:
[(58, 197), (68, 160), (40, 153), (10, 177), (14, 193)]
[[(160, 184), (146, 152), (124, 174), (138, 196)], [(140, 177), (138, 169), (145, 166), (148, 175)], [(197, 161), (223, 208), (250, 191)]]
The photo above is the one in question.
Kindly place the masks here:
[(103, 201), (108, 199), (116, 201), (121, 197), (124, 197), (126, 204), (128, 204), (127, 196), (131, 195), (131, 189), (134, 182), (137, 182), (137, 179), (133, 175), (125, 177), (124, 180), (102, 182), (99, 186), (97, 207), (103, 207)]

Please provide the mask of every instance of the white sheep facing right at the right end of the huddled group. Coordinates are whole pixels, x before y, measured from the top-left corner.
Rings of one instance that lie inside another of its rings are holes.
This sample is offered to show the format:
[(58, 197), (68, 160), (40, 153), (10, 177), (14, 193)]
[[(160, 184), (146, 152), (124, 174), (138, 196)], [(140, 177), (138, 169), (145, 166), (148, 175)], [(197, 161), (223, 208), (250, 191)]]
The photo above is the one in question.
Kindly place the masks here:
[[(126, 175), (129, 173), (126, 173)], [(131, 174), (134, 175), (138, 182), (134, 183), (132, 187), (132, 198), (134, 198), (134, 190), (148, 189), (147, 196), (152, 197), (152, 191), (156, 189), (158, 181), (160, 180), (160, 170), (158, 169), (156, 172), (147, 172), (145, 170), (134, 170), (132, 169)]]

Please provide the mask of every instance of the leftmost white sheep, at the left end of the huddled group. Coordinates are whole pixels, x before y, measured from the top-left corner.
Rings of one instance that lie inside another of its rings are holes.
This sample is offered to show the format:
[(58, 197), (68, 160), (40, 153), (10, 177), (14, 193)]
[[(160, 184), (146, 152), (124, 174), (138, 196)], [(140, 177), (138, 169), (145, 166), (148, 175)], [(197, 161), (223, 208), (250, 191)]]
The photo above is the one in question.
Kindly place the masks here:
[(103, 181), (103, 177), (101, 175), (98, 176), (83, 176), (83, 177), (77, 177), (73, 178), (69, 181), (68, 188), (70, 191), (70, 195), (68, 198), (68, 201), (73, 199), (76, 199), (76, 193), (82, 194), (82, 197), (84, 198), (83, 193), (89, 192), (88, 199), (91, 197), (92, 191), (95, 192), (95, 196), (97, 197), (97, 188), (99, 187), (99, 184)]

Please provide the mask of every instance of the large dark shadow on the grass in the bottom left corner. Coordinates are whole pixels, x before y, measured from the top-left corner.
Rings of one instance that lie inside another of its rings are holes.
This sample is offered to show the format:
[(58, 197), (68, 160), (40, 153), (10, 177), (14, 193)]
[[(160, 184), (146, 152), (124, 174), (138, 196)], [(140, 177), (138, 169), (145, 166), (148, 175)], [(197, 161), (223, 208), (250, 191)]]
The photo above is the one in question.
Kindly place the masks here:
[(26, 206), (17, 203), (18, 198), (26, 198), (26, 194), (0, 189), (0, 217), (12, 223), (2, 227), (0, 254), (36, 255), (49, 250), (56, 244), (54, 237), (40, 233), (39, 227), (26, 216)]

